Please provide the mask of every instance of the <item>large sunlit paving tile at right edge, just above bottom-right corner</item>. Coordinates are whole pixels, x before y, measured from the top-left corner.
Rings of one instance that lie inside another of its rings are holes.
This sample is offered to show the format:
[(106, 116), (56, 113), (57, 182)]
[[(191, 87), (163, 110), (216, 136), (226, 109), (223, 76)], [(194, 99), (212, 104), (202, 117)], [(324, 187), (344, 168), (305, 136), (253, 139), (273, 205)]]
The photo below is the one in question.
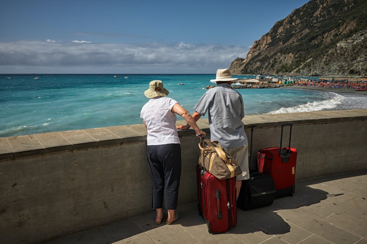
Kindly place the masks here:
[(342, 213), (335, 213), (323, 219), (323, 221), (347, 230), (357, 236), (367, 238), (366, 222), (360, 221)]

